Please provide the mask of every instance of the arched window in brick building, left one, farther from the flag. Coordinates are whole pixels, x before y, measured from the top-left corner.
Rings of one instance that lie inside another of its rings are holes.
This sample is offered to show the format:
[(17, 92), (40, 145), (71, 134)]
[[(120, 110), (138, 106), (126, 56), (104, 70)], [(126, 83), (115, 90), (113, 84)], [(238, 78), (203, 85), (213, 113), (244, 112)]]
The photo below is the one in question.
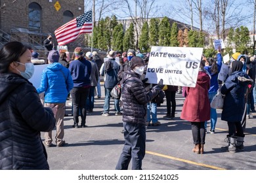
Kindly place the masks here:
[(30, 3), (28, 9), (28, 26), (34, 29), (40, 29), (42, 8), (37, 3)]

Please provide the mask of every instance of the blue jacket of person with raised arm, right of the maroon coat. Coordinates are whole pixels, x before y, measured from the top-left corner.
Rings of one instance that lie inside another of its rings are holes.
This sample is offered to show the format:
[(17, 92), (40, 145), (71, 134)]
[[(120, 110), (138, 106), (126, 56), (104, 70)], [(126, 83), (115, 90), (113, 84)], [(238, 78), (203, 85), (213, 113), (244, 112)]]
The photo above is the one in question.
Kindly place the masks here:
[(219, 84), (218, 84), (218, 75), (219, 71), (221, 71), (221, 65), (223, 63), (223, 58), (220, 53), (217, 54), (217, 67), (218, 67), (218, 73), (213, 74), (211, 73), (211, 65), (205, 66), (204, 69), (207, 70), (210, 75), (211, 75), (211, 86), (209, 88), (208, 93), (215, 93), (219, 89)]

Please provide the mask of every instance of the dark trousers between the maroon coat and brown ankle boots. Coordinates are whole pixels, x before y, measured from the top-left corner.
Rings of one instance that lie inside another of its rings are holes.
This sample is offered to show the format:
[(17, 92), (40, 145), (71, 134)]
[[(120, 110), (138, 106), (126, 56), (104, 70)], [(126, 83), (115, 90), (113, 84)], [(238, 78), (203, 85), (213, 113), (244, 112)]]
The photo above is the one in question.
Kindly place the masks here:
[(191, 122), (194, 144), (205, 144), (205, 122)]

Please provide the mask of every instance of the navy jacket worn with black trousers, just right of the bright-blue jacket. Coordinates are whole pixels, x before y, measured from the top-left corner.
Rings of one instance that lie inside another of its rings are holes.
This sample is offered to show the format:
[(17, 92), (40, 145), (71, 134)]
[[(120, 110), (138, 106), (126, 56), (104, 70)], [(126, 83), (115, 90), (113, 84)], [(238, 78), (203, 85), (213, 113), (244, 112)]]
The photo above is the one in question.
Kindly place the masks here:
[(74, 88), (80, 88), (84, 86), (91, 86), (91, 63), (83, 58), (81, 61), (78, 59), (73, 60), (70, 63), (70, 70), (72, 80), (74, 82)]

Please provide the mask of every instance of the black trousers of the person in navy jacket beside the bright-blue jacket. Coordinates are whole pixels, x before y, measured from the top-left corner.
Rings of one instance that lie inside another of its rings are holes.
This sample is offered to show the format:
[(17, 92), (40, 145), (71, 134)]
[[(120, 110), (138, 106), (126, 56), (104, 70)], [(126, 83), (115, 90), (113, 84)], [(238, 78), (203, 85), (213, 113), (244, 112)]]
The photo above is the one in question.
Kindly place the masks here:
[(74, 125), (78, 125), (79, 112), (81, 114), (81, 125), (85, 125), (86, 120), (86, 100), (90, 88), (73, 88), (70, 91), (73, 103)]

